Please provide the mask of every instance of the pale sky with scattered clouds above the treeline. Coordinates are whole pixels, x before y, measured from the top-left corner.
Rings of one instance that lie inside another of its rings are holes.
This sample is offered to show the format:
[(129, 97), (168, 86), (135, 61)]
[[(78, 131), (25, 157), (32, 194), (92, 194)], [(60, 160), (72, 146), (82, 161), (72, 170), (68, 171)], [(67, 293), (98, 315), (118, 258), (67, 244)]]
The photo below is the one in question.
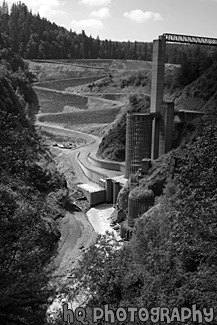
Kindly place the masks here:
[[(10, 5), (13, 0), (6, 0)], [(163, 33), (217, 37), (217, 0), (22, 0), (33, 13), (101, 40), (151, 42)]]

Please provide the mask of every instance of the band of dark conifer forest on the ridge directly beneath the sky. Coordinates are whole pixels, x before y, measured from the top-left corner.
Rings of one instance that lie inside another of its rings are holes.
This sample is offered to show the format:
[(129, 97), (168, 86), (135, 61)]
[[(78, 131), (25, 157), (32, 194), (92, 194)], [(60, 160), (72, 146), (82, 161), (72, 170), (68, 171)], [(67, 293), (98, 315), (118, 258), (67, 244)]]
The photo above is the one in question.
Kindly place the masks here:
[[(114, 42), (100, 40), (57, 26), (40, 15), (33, 14), (22, 2), (10, 10), (4, 0), (0, 6), (0, 29), (10, 38), (10, 47), (26, 59), (132, 59), (152, 60), (150, 42)], [(167, 44), (166, 62), (186, 66), (191, 58), (203, 57), (204, 48)], [(206, 64), (204, 62), (204, 64)]]

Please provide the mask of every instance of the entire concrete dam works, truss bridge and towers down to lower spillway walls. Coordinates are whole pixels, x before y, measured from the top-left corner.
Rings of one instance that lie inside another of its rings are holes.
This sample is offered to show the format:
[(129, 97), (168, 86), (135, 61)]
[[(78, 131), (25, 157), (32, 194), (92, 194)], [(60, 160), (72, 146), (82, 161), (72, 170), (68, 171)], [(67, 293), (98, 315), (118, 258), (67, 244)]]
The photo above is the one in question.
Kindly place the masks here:
[[(88, 171), (88, 167), (81, 166), (85, 174), (100, 186), (98, 190), (88, 190), (87, 186), (86, 188), (83, 186), (83, 191), (86, 191), (91, 206), (104, 202), (115, 205), (120, 189), (131, 174), (135, 174), (138, 170), (142, 174), (147, 174), (151, 160), (157, 159), (172, 149), (175, 118), (181, 122), (187, 122), (203, 115), (199, 111), (175, 112), (174, 102), (163, 101), (166, 42), (217, 45), (216, 39), (176, 34), (163, 34), (153, 41), (150, 113), (127, 114), (125, 165), (117, 162), (103, 162), (94, 156), (89, 157), (95, 166), (104, 166), (108, 170), (119, 173), (116, 177), (107, 177), (106, 174), (97, 175), (97, 172)], [(129, 195), (127, 220), (121, 224), (122, 238), (130, 239), (135, 219), (153, 205), (154, 201), (151, 197), (140, 200)], [(122, 211), (118, 211), (118, 214), (121, 215)]]

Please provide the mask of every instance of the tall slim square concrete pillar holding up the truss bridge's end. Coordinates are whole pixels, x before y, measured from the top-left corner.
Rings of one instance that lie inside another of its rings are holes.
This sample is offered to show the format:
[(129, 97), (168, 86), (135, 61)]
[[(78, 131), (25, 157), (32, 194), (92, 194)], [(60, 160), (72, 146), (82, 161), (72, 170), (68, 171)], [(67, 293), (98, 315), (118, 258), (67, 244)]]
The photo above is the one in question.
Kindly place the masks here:
[[(159, 36), (159, 39), (153, 41), (151, 113), (160, 113), (163, 103), (165, 49), (165, 36)], [(153, 121), (152, 130), (152, 159), (158, 158), (159, 154), (159, 128), (160, 121), (158, 118), (156, 118)]]

